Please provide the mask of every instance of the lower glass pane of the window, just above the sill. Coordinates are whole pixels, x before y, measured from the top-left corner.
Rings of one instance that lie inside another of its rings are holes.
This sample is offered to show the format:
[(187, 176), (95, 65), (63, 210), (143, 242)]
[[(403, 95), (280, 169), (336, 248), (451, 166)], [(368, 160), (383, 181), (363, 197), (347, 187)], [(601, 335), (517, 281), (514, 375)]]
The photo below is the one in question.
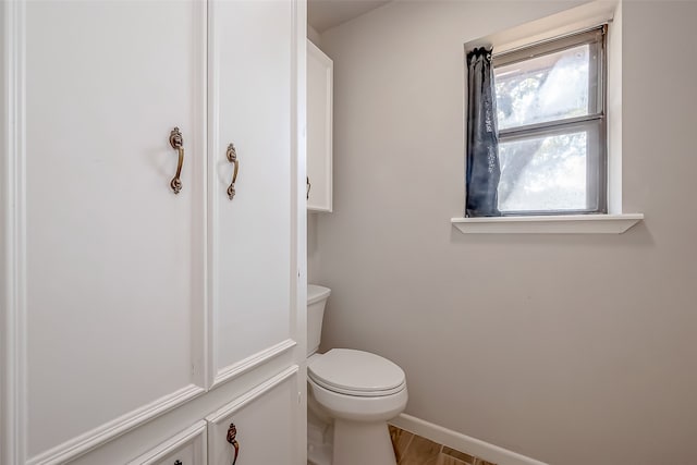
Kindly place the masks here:
[(587, 133), (553, 134), (499, 145), (499, 209), (585, 210)]

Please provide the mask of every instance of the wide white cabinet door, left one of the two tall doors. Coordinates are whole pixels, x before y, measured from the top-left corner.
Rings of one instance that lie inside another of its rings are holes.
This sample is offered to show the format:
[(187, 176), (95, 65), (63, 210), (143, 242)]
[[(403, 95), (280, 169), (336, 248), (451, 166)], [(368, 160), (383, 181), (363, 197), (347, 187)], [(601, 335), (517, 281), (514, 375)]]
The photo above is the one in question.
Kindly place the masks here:
[(205, 4), (25, 5), (27, 427), (14, 433), (30, 463), (63, 463), (201, 390)]

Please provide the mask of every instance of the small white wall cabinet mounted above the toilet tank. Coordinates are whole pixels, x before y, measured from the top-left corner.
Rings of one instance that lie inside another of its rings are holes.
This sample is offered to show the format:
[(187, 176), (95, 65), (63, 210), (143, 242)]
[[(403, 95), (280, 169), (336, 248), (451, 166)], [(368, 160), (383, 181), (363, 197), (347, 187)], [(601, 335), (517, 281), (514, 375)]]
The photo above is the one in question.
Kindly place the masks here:
[(334, 64), (307, 40), (307, 209), (332, 210)]

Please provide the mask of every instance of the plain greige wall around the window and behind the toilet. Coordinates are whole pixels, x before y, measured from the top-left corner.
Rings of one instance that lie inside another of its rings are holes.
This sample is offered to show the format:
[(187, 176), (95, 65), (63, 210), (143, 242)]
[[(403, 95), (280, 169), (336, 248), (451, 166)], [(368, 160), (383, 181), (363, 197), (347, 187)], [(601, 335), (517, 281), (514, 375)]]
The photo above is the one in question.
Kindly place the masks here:
[(463, 49), (568, 2), (398, 1), (326, 32), (323, 346), (407, 374), (407, 413), (551, 464), (697, 463), (695, 2), (626, 2), (623, 235), (474, 235)]

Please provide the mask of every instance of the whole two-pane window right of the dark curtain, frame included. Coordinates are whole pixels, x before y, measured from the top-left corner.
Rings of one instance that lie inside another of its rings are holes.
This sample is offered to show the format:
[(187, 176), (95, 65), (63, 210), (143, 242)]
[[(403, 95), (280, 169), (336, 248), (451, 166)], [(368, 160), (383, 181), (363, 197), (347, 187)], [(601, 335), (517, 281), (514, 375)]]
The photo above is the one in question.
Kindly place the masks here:
[(608, 211), (606, 27), (493, 56), (502, 215)]

